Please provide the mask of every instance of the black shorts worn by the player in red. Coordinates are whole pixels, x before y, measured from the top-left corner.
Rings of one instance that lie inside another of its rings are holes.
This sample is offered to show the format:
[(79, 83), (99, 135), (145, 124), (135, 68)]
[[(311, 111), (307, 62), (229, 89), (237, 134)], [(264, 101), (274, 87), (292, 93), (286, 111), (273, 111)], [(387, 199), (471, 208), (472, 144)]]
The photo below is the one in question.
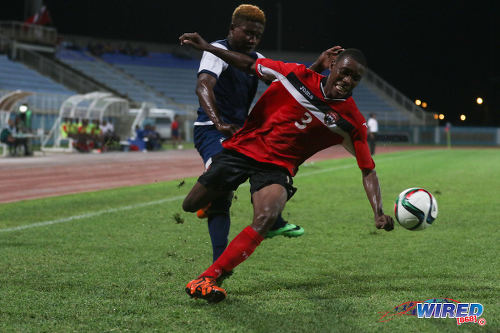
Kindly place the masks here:
[(297, 191), (292, 186), (292, 176), (285, 168), (258, 162), (229, 149), (224, 149), (213, 157), (210, 168), (198, 178), (198, 182), (213, 190), (234, 191), (248, 178), (251, 194), (272, 184), (283, 186), (288, 200)]

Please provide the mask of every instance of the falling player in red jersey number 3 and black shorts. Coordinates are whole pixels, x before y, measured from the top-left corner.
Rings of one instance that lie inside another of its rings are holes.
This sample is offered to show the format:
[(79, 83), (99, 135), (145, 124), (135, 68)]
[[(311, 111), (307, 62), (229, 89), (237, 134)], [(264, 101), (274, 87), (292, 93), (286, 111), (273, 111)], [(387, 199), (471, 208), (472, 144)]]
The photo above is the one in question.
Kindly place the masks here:
[(256, 60), (216, 48), (197, 33), (185, 33), (179, 40), (181, 45), (211, 52), (242, 71), (273, 81), (244, 126), (223, 142), (224, 150), (213, 158), (211, 168), (198, 178), (183, 202), (185, 211), (195, 212), (250, 179), (252, 224), (231, 241), (205, 272), (187, 284), (186, 292), (191, 297), (209, 302), (226, 297), (216, 279), (253, 253), (295, 193), (292, 177), (299, 165), (329, 146), (342, 144), (356, 157), (375, 226), (386, 231), (394, 228), (394, 221), (382, 209), (375, 163), (367, 143), (366, 121), (351, 97), (366, 66), (359, 50), (340, 53), (325, 77), (304, 65), (266, 58)]

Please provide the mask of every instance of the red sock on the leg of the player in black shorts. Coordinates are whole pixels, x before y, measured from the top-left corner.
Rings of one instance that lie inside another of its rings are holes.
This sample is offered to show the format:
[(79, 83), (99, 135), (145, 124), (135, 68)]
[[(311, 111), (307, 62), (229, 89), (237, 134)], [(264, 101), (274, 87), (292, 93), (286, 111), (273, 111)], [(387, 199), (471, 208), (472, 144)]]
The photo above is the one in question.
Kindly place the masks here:
[(231, 243), (229, 243), (219, 259), (199, 277), (210, 276), (218, 278), (222, 272), (232, 271), (233, 268), (250, 257), (255, 248), (259, 246), (260, 242), (263, 240), (264, 237), (259, 235), (252, 227), (246, 227), (231, 241)]

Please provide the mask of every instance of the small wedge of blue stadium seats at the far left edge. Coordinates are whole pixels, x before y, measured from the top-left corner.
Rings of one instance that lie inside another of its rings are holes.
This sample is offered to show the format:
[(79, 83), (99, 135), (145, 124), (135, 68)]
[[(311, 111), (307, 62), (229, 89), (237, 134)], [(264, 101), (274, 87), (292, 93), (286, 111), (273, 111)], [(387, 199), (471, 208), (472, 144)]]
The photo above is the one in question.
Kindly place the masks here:
[(75, 92), (41, 75), (24, 64), (0, 55), (0, 89), (40, 93), (74, 94)]

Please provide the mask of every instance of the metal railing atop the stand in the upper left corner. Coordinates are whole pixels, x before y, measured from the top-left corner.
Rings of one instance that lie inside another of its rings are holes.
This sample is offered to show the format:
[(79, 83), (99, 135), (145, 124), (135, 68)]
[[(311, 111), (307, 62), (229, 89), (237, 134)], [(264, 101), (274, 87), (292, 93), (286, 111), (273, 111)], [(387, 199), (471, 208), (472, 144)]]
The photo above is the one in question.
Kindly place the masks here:
[(57, 44), (57, 30), (36, 24), (16, 21), (0, 21), (0, 34), (5, 37), (26, 43), (44, 45)]

